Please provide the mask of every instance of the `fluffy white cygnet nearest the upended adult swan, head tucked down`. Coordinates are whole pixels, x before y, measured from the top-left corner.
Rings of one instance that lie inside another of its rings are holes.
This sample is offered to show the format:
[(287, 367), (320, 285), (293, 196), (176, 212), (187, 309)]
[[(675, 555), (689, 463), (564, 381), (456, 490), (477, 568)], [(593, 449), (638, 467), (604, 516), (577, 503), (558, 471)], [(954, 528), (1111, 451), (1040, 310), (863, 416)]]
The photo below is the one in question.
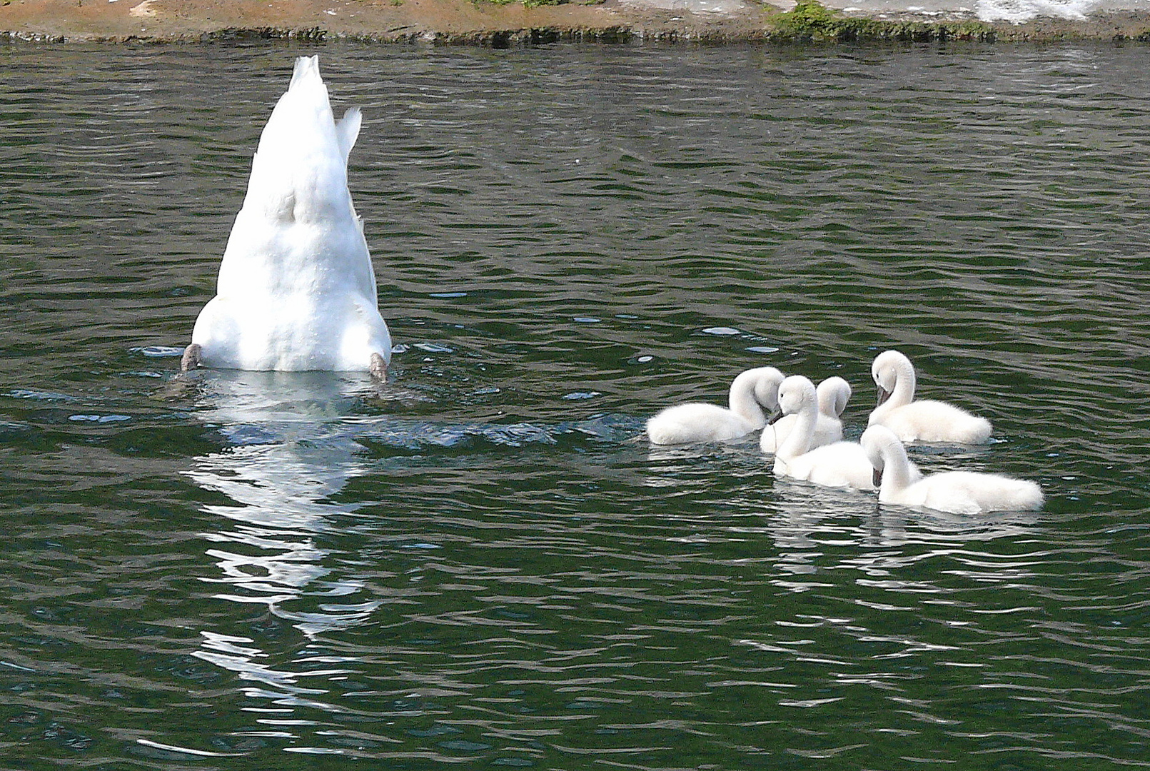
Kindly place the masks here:
[(731, 381), (729, 407), (715, 404), (676, 404), (647, 420), (652, 444), (727, 442), (767, 425), (767, 413), (777, 403), (783, 374), (774, 367), (756, 367)]

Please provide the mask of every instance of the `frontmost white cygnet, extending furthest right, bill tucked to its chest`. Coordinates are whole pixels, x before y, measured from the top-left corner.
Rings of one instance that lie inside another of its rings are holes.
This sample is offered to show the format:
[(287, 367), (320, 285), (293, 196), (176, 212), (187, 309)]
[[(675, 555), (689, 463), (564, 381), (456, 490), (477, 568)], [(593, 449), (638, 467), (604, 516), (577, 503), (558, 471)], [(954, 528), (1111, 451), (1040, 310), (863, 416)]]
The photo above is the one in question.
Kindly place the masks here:
[(862, 449), (875, 470), (879, 501), (954, 514), (988, 511), (1035, 511), (1042, 489), (1034, 482), (1000, 474), (951, 471), (915, 478), (906, 448), (885, 426), (862, 432)]

